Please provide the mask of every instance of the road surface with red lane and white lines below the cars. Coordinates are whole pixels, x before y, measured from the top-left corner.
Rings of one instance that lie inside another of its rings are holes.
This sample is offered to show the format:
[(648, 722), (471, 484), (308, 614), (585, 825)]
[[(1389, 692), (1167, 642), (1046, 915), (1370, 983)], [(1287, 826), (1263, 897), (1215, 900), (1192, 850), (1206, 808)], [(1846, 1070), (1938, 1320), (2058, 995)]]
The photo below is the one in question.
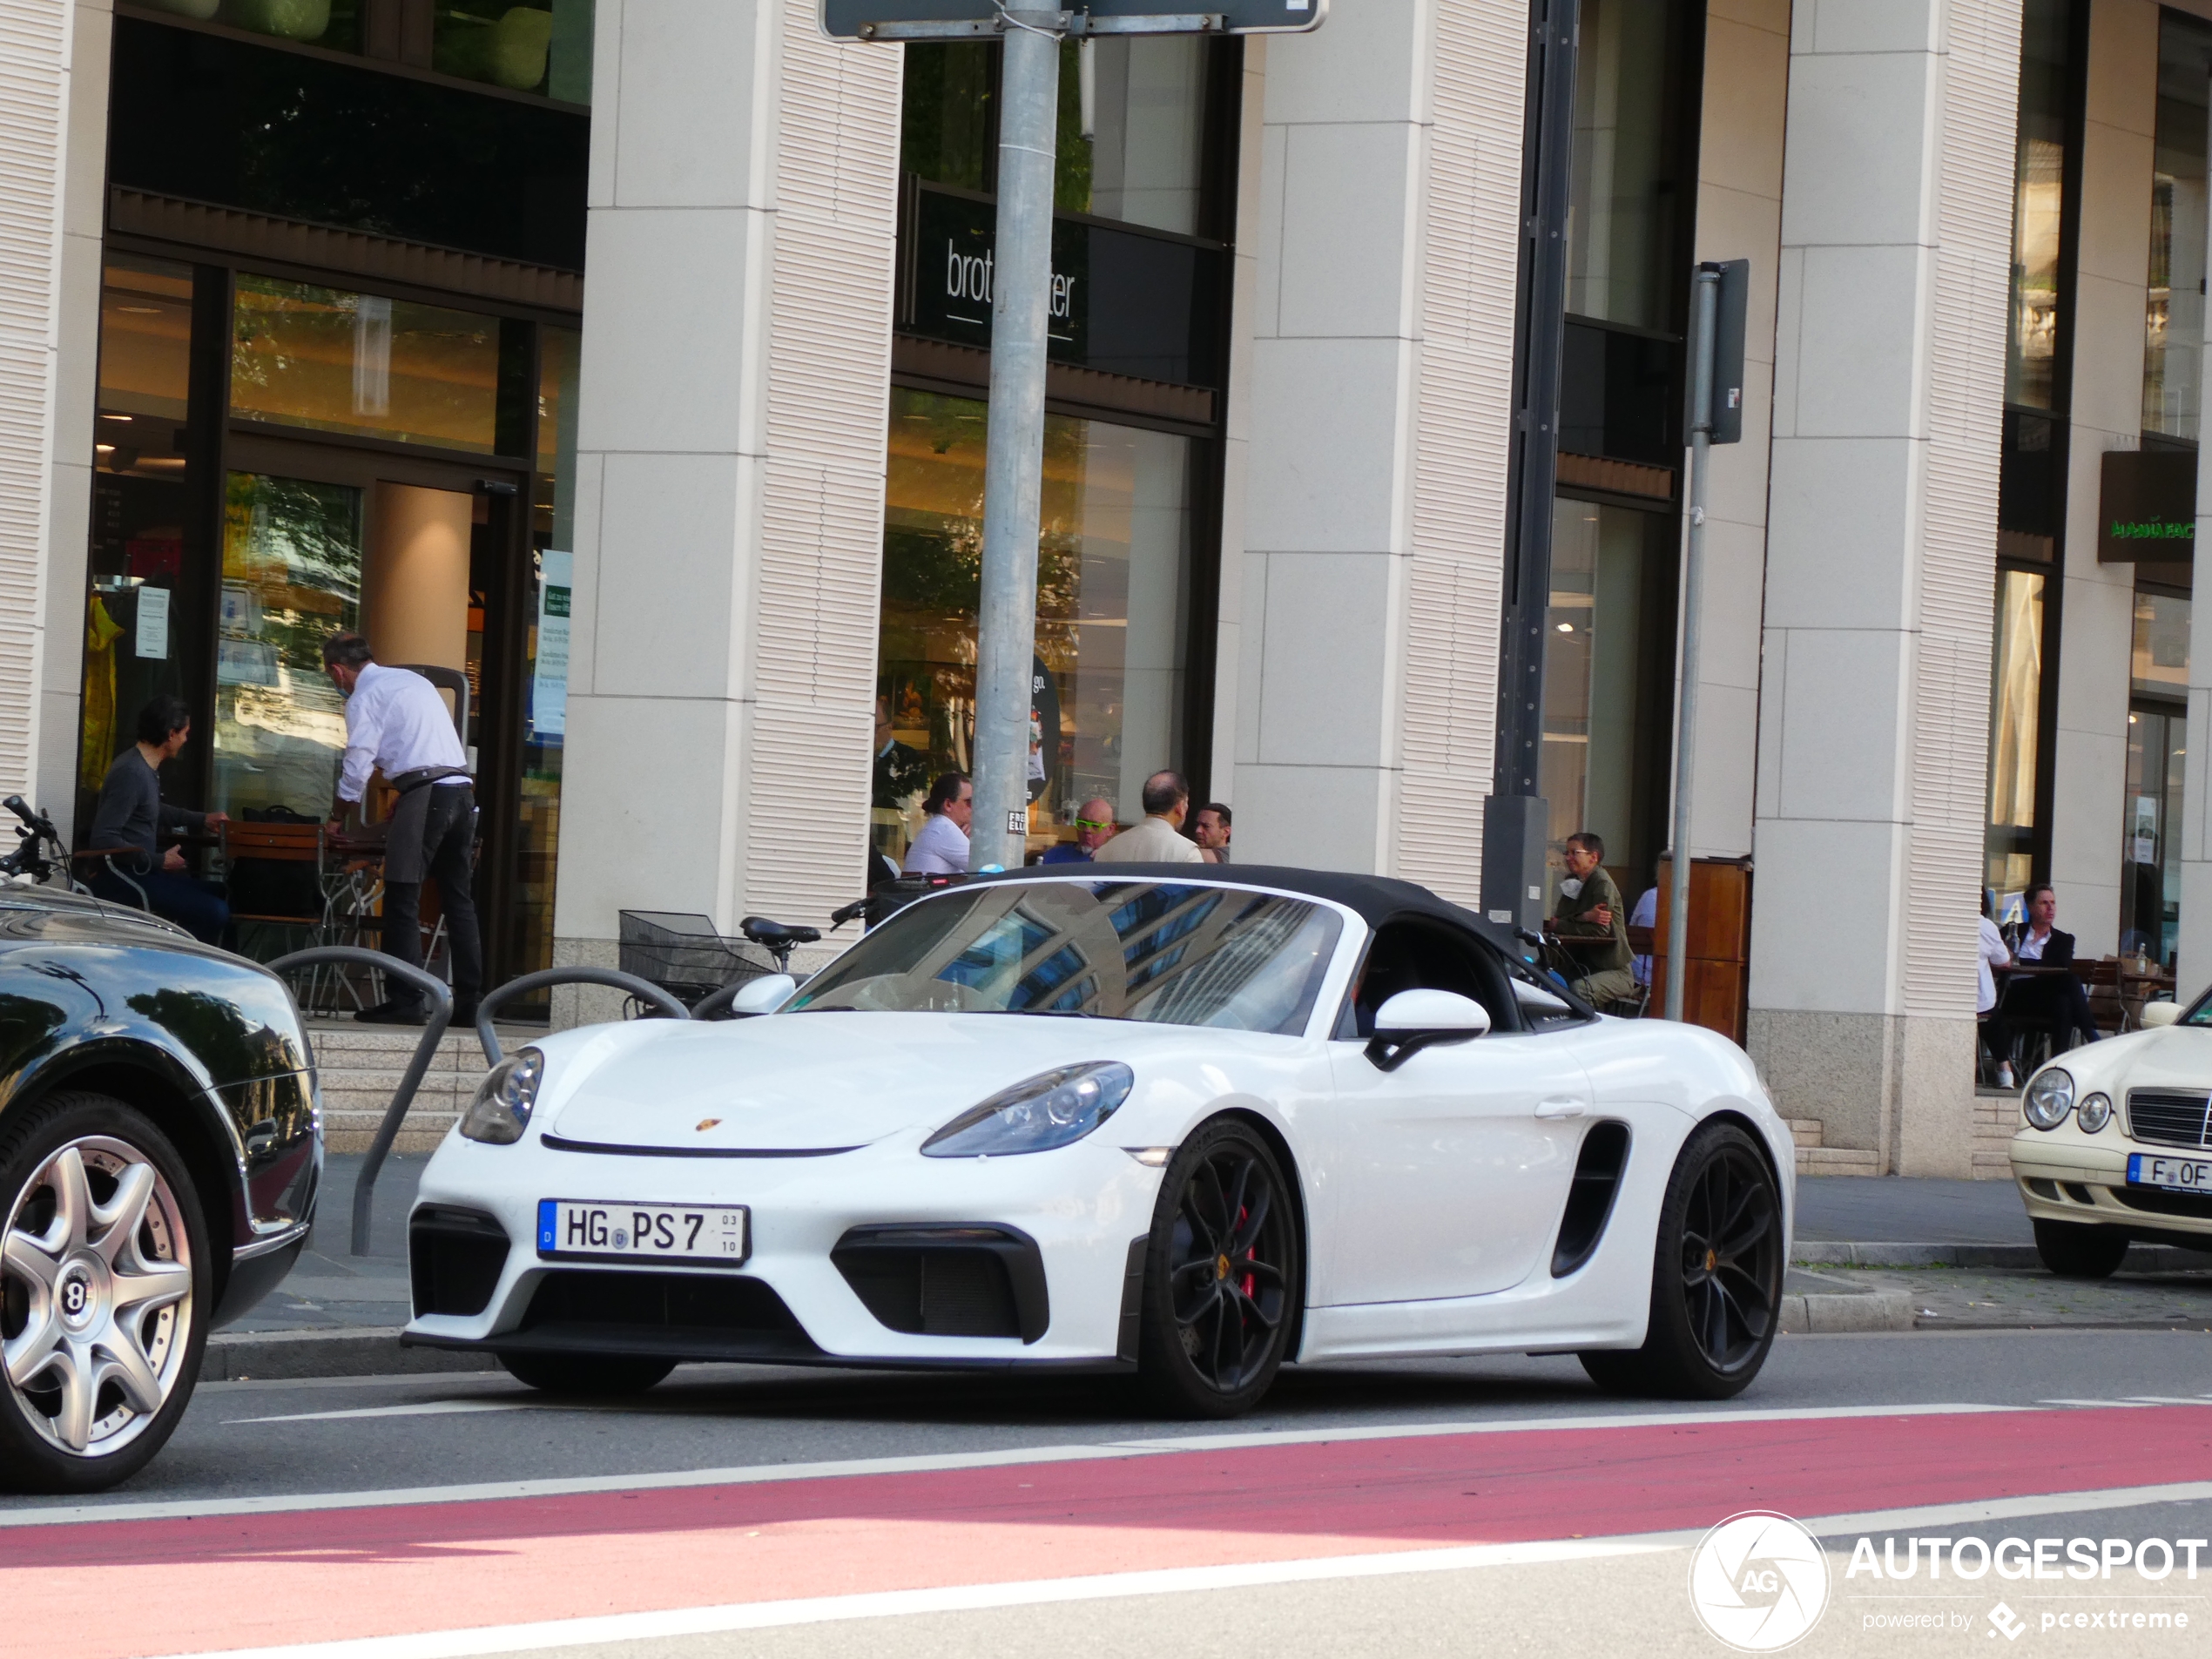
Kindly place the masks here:
[[(2208, 1360), (2203, 1332), (1792, 1336), (1697, 1409), (1568, 1358), (1314, 1367), (1234, 1425), (1075, 1378), (688, 1367), (619, 1407), (498, 1376), (208, 1385), (131, 1489), (0, 1506), (0, 1652), (66, 1624), (84, 1659), (1719, 1655), (1690, 1546), (1745, 1509), (1827, 1546), (1801, 1652), (2008, 1650), (2000, 1599), (2037, 1652), (2185, 1652), (2212, 1548), (2194, 1579), (2130, 1559), (2212, 1537)], [(2130, 1559), (1849, 1573), (1858, 1537), (1902, 1564), (1922, 1535)], [(2097, 1610), (2188, 1626), (2042, 1626)]]

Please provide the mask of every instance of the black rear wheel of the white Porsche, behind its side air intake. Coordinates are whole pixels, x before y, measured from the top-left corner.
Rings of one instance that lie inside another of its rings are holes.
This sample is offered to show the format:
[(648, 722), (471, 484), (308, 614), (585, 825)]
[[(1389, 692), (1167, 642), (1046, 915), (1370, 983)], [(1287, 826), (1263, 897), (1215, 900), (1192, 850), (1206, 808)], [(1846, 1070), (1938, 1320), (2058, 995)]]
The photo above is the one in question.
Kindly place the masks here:
[(1705, 1124), (1674, 1159), (1659, 1206), (1644, 1347), (1590, 1349), (1582, 1369), (1610, 1394), (1743, 1394), (1774, 1347), (1783, 1254), (1781, 1192), (1759, 1141), (1734, 1124)]

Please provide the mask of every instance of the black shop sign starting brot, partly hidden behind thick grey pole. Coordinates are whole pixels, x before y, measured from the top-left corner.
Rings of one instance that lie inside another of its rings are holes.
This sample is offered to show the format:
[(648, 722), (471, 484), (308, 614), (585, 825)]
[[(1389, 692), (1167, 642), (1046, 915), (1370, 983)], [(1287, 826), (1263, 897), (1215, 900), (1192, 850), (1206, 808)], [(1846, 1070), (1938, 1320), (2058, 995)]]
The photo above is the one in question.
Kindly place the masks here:
[[(900, 332), (991, 347), (995, 215), (991, 197), (914, 186), (900, 223)], [(1188, 237), (1053, 219), (1048, 358), (1219, 389), (1225, 263)]]

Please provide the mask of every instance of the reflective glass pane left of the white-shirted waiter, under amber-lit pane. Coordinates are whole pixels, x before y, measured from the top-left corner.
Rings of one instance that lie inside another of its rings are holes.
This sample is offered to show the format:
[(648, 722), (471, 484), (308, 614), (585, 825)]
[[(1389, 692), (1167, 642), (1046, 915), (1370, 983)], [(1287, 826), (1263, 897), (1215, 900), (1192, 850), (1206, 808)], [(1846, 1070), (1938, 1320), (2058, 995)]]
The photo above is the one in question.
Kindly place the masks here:
[(361, 626), (363, 491), (230, 473), (215, 659), (215, 787), (237, 818), (316, 823), (345, 759), (323, 641)]

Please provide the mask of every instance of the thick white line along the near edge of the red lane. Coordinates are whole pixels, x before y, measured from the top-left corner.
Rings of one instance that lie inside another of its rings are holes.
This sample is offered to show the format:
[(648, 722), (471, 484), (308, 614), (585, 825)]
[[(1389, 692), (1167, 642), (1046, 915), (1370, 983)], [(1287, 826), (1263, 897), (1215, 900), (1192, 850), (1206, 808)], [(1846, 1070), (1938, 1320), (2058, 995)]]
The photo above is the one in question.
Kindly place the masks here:
[[(2000, 1498), (1922, 1509), (1880, 1509), (1860, 1515), (1809, 1515), (1805, 1526), (1823, 1540), (1858, 1533), (1891, 1533), (1907, 1526), (1971, 1526), (2028, 1515), (2073, 1515), (2146, 1504), (2212, 1502), (2212, 1482), (2170, 1486), (2110, 1486), (2104, 1491), (2055, 1493), (2048, 1498)], [(1263, 1584), (1312, 1584), (1321, 1579), (1396, 1577), (1405, 1573), (1460, 1573), (1484, 1566), (1535, 1566), (1546, 1562), (1601, 1562), (1621, 1555), (1657, 1555), (1694, 1544), (1701, 1531), (1630, 1533), (1619, 1537), (1551, 1540), (1535, 1544), (1464, 1544), (1455, 1548), (1387, 1551), (1378, 1555), (1321, 1555), (1303, 1562), (1245, 1562), (1232, 1566), (1172, 1566), (1148, 1573), (1097, 1573), (1026, 1584), (958, 1584), (931, 1590), (876, 1590), (823, 1595), (790, 1601), (739, 1601), (703, 1608), (655, 1608), (588, 1619), (544, 1619), (476, 1630), (422, 1630), (396, 1637), (307, 1641), (283, 1648), (237, 1648), (228, 1659), (476, 1659), (478, 1655), (540, 1648), (582, 1648), (608, 1641), (666, 1641), (670, 1637), (726, 1630), (774, 1630), (843, 1619), (889, 1619), (918, 1613), (980, 1613), (984, 1608), (1108, 1601), (1135, 1595), (1183, 1595), (1192, 1590), (1241, 1590)], [(175, 1659), (215, 1659), (177, 1655)]]

